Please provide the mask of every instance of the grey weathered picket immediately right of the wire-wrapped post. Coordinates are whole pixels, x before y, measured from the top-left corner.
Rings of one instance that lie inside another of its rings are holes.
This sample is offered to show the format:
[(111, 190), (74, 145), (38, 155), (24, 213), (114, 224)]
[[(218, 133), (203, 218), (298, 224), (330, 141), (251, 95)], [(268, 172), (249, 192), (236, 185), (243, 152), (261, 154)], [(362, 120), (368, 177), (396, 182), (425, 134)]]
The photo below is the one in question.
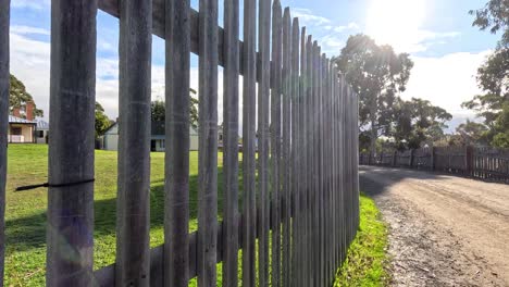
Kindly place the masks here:
[(150, 285), (152, 2), (120, 4), (116, 286)]

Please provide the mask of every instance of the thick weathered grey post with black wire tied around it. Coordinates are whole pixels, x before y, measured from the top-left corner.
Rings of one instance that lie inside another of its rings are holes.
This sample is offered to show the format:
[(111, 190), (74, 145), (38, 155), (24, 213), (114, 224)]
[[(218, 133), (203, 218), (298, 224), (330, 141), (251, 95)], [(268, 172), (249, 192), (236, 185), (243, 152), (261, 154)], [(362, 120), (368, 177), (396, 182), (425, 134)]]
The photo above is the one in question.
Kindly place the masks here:
[(51, 4), (47, 286), (92, 285), (96, 16), (97, 0)]

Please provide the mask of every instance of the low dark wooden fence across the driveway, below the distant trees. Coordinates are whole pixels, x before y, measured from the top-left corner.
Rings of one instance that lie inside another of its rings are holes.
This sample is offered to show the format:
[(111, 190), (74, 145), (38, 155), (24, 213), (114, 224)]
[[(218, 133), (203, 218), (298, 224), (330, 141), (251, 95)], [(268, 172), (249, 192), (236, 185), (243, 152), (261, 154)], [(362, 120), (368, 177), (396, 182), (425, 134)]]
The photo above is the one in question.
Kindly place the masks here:
[(474, 147), (433, 147), (384, 151), (376, 157), (360, 153), (363, 165), (422, 169), (509, 183), (509, 150)]

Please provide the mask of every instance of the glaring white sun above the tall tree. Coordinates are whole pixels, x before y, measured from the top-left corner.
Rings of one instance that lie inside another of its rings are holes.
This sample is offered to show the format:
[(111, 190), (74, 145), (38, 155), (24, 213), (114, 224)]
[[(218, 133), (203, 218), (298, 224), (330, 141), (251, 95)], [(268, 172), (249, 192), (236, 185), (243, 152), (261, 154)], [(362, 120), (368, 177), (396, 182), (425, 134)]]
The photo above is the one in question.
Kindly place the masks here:
[(380, 45), (399, 52), (419, 47), (417, 39), (426, 16), (425, 0), (372, 0), (368, 10), (367, 34)]

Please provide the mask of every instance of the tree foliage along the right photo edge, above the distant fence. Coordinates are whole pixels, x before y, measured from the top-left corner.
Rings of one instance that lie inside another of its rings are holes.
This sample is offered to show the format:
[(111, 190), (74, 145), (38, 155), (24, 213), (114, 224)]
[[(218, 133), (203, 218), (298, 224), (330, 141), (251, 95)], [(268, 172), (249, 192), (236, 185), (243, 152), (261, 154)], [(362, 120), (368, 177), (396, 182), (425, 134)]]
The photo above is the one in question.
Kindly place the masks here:
[(462, 104), (475, 111), (483, 123), (468, 121), (457, 132), (476, 144), (509, 148), (509, 1), (491, 0), (470, 14), (474, 15), (473, 26), (501, 33), (501, 38), (477, 70), (482, 93)]

